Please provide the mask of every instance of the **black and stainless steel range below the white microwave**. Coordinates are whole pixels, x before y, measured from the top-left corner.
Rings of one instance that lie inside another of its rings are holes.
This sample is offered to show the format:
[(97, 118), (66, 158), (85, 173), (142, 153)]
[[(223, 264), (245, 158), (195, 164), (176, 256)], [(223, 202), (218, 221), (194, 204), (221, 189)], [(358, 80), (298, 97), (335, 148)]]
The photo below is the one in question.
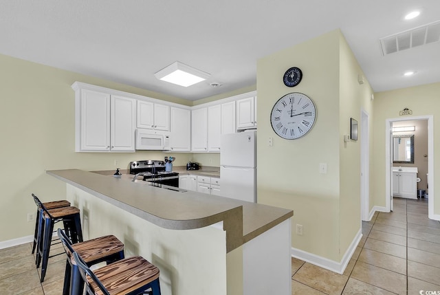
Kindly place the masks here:
[(130, 174), (133, 174), (133, 182), (137, 177), (142, 176), (144, 182), (151, 182), (152, 185), (179, 187), (179, 173), (166, 172), (165, 162), (161, 160), (144, 160), (130, 162)]

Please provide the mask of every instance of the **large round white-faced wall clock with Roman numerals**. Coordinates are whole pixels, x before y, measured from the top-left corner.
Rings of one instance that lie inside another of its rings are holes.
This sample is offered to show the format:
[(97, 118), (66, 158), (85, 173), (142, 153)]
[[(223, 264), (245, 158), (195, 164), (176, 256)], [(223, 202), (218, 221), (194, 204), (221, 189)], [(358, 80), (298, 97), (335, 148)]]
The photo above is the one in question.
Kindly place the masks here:
[(314, 102), (305, 94), (292, 92), (280, 98), (270, 113), (272, 129), (281, 138), (296, 140), (302, 138), (316, 120)]

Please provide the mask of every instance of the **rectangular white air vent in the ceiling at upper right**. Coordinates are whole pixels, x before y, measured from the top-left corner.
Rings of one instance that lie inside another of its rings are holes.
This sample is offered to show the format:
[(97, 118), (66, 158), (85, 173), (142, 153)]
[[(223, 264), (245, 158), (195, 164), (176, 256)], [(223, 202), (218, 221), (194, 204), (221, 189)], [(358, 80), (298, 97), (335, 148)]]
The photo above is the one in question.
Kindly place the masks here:
[(421, 27), (393, 34), (380, 39), (382, 54), (392, 54), (412, 47), (440, 41), (440, 21)]

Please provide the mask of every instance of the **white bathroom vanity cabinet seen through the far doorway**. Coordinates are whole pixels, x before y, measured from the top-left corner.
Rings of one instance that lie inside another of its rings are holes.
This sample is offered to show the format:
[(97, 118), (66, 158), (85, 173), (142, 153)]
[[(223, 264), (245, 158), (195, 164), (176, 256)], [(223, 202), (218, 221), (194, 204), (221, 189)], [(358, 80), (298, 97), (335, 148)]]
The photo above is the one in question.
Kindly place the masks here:
[(417, 167), (393, 167), (393, 197), (417, 199)]

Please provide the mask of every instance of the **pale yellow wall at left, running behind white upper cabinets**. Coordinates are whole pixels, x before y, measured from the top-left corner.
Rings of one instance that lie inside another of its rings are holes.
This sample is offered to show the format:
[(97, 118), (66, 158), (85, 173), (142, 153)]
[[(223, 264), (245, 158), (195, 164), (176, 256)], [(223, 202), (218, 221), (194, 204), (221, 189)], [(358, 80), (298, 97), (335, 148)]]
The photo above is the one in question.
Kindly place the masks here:
[[(75, 81), (190, 105), (192, 102), (155, 94), (106, 80), (63, 71), (0, 55), (0, 241), (33, 233), (28, 212), (36, 207), (31, 193), (43, 201), (65, 198), (65, 184), (45, 170), (80, 168), (88, 171), (126, 168), (130, 161), (162, 159), (161, 152), (75, 153)], [(176, 165), (192, 154), (179, 153)]]

